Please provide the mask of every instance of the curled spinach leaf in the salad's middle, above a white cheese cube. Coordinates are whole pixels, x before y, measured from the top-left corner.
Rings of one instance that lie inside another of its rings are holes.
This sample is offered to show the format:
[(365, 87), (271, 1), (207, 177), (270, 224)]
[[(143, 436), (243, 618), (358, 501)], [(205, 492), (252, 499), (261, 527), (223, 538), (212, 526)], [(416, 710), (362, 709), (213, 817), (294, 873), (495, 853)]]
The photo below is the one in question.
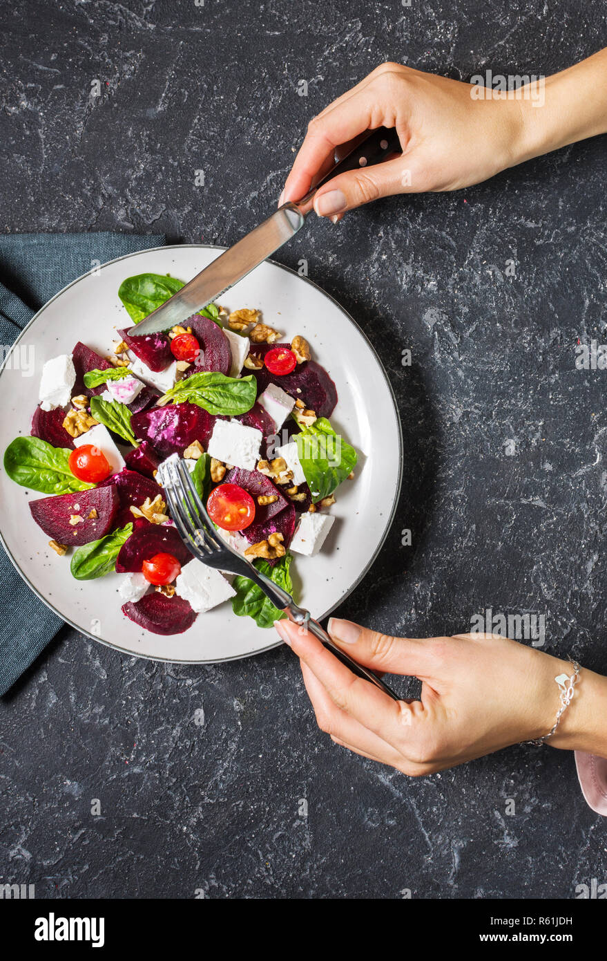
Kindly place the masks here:
[(255, 404), (257, 397), (257, 382), (253, 374), (248, 377), (226, 377), (213, 371), (200, 371), (192, 374), (185, 381), (179, 381), (158, 404), (174, 401), (182, 404), (189, 401), (204, 407), (209, 414), (244, 414)]

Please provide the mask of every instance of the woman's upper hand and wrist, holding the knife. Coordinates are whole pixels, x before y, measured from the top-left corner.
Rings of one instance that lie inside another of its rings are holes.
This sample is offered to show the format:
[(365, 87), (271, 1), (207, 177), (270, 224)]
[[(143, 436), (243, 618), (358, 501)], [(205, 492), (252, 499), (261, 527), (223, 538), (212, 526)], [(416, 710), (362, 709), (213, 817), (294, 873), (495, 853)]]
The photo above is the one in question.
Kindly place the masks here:
[[(402, 155), (341, 174), (314, 199), (320, 216), (378, 197), (457, 190), (566, 143), (607, 130), (607, 51), (510, 97), (401, 66), (382, 63), (314, 117), (279, 204), (304, 197), (341, 153), (368, 130), (396, 127)], [(541, 85), (541, 86), (538, 86)]]

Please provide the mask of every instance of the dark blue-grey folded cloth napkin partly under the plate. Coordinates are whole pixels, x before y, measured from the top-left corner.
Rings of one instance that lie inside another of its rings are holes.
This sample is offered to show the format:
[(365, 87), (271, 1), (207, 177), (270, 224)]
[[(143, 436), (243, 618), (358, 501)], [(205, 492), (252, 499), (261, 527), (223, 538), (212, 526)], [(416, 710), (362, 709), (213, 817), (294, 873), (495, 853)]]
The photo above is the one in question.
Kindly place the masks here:
[[(149, 247), (164, 236), (134, 234), (6, 234), (0, 236), (0, 343), (6, 355), (20, 331), (51, 297), (93, 267)], [(0, 696), (53, 639), (62, 621), (38, 600), (0, 547), (3, 617)]]

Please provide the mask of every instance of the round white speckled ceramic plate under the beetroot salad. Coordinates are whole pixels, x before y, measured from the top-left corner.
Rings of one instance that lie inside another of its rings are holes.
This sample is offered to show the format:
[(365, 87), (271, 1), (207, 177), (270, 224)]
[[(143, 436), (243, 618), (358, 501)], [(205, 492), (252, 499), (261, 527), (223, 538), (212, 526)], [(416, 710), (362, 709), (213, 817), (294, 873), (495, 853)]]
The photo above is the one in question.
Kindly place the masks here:
[[(17, 434), (30, 432), (46, 360), (70, 354), (78, 340), (107, 354), (115, 329), (130, 326), (118, 300), (118, 287), (126, 277), (169, 273), (189, 281), (222, 250), (191, 244), (111, 260), (65, 287), (39, 310), (0, 371), (2, 452)], [(316, 557), (294, 554), (297, 600), (320, 618), (343, 601), (367, 572), (394, 516), (402, 464), (395, 398), (375, 351), (352, 318), (294, 271), (266, 261), (221, 300), (231, 310), (261, 308), (263, 320), (284, 333), (285, 339), (296, 333), (306, 337), (313, 356), (337, 386), (339, 402), (331, 423), (359, 452), (355, 480), (342, 484), (331, 507), (336, 521), (323, 551)], [(119, 651), (187, 663), (245, 657), (278, 643), (274, 631), (257, 628), (249, 617), (236, 617), (230, 603), (199, 615), (182, 634), (163, 637), (138, 628), (120, 609), (121, 575), (74, 580), (69, 556), (59, 557), (47, 547), (27, 503), (30, 497), (43, 496), (18, 487), (0, 470), (4, 546), (38, 597), (72, 627)]]

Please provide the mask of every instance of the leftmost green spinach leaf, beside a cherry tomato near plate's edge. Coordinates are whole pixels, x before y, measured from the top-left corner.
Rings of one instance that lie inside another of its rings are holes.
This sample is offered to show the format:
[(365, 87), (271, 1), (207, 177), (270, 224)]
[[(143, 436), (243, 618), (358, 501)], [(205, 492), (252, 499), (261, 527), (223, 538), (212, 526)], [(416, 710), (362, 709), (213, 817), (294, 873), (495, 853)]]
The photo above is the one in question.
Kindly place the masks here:
[(15, 437), (4, 455), (4, 469), (15, 483), (43, 494), (71, 494), (95, 485), (78, 480), (69, 469), (66, 447), (52, 447), (39, 437)]

